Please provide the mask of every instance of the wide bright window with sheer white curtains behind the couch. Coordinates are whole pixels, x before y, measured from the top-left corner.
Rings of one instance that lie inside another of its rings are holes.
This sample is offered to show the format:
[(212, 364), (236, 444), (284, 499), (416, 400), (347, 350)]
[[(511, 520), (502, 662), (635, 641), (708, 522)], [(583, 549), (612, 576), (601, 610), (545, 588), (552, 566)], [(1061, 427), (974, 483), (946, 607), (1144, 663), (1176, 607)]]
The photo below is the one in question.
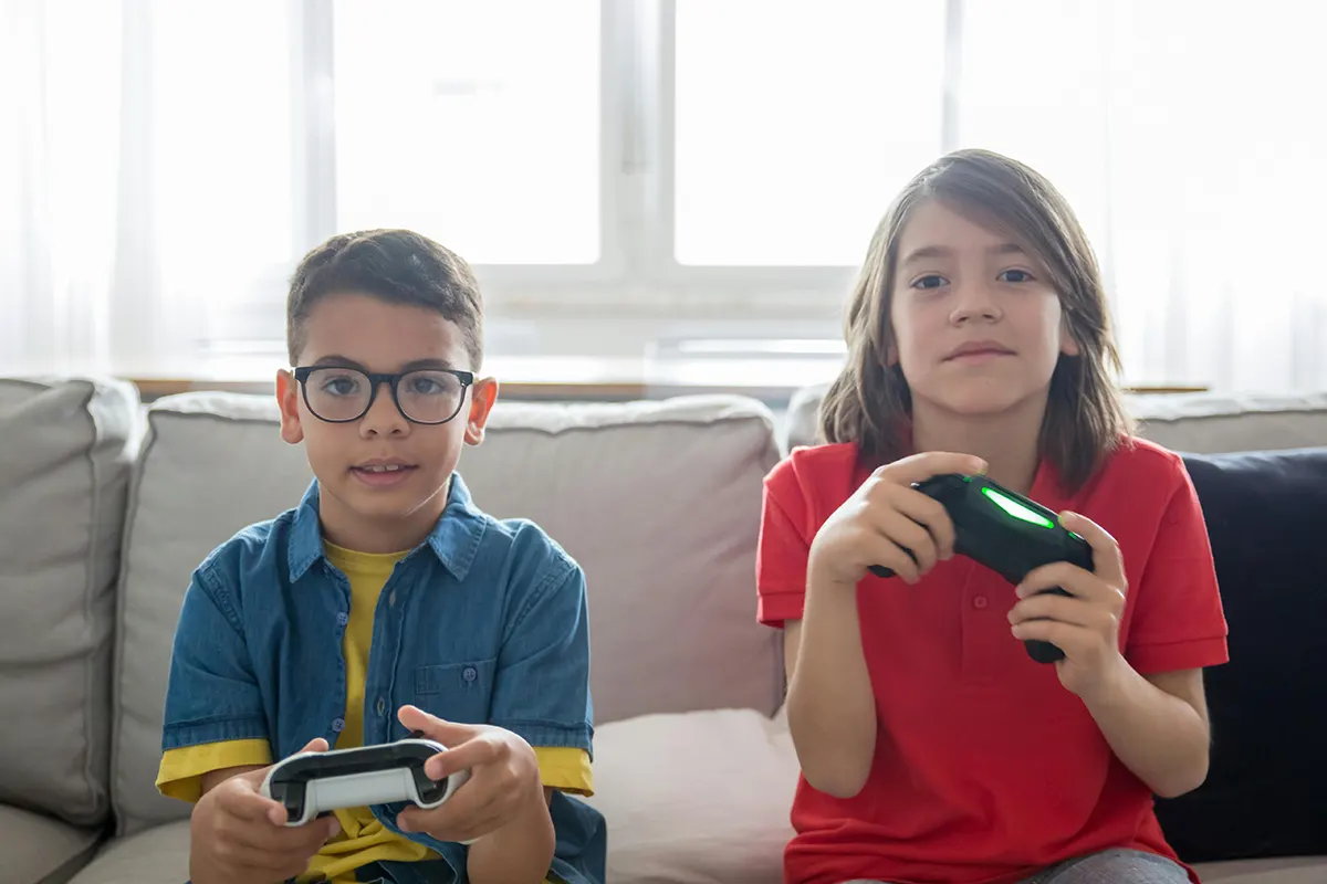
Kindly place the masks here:
[(1078, 211), (1131, 380), (1327, 386), (1299, 0), (107, 0), (86, 52), (77, 5), (0, 28), (33, 351), (271, 353), (299, 257), (366, 227), (476, 265), (491, 353), (835, 338), (898, 187), (982, 146)]

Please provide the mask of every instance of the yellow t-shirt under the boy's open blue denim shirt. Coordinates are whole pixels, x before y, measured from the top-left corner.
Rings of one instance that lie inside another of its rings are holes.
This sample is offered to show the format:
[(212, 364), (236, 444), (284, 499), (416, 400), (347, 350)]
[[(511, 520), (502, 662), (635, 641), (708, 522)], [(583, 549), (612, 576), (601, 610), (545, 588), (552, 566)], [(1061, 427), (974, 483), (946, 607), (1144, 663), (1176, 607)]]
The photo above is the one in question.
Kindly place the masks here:
[[(373, 611), (378, 594), (406, 553), (356, 553), (324, 542), (328, 561), (350, 582), (350, 615), (341, 641), (345, 656), (345, 729), (333, 749), (353, 749), (364, 741), (364, 685), (369, 671), (369, 644), (373, 640)], [(564, 746), (536, 747), (544, 786), (567, 793), (593, 793), (589, 754)], [(265, 740), (235, 740), (171, 749), (162, 755), (157, 787), (163, 795), (195, 802), (203, 775), (224, 767), (272, 763)], [(308, 875), (324, 876), (333, 884), (356, 881), (354, 869), (377, 861), (419, 861), (437, 859), (423, 844), (405, 839), (380, 823), (368, 807), (336, 811), (341, 832), (328, 842), (309, 863)]]

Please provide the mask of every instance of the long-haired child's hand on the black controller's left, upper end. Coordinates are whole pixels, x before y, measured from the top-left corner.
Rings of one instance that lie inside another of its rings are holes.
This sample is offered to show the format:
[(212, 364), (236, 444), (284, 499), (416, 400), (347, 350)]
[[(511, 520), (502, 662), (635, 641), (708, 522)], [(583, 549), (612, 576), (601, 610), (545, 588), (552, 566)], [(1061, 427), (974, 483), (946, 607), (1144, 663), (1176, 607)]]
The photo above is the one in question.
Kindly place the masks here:
[(881, 467), (816, 531), (808, 571), (820, 580), (856, 586), (867, 569), (882, 565), (916, 583), (936, 562), (954, 554), (954, 524), (913, 482), (985, 469), (981, 457), (946, 452), (924, 452)]

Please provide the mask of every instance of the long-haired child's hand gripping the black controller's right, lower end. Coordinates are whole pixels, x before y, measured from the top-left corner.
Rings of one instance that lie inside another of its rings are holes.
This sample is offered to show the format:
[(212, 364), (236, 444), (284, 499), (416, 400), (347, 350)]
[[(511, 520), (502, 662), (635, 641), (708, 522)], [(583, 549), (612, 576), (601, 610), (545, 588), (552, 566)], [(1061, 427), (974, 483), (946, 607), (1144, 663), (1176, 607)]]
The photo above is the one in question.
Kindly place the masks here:
[[(1009, 612), (1009, 622), (1014, 637), (1050, 641), (1063, 651), (1064, 659), (1055, 664), (1060, 684), (1087, 700), (1127, 665), (1120, 655), (1120, 618), (1128, 584), (1113, 537), (1078, 513), (1060, 513), (1060, 524), (1092, 546), (1096, 571), (1068, 562), (1032, 570), (1018, 586), (1022, 600)], [(1038, 595), (1056, 586), (1074, 598)]]

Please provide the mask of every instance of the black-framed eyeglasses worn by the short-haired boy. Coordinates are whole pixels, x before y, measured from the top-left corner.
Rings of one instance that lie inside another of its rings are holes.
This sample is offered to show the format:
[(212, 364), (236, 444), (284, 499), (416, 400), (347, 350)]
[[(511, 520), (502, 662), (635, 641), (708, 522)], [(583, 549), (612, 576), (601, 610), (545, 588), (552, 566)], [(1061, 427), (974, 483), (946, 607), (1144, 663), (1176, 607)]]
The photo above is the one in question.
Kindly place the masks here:
[(295, 379), (304, 390), (304, 404), (329, 424), (349, 424), (369, 414), (378, 387), (391, 388), (401, 416), (413, 424), (445, 424), (466, 402), (466, 388), (475, 375), (458, 368), (417, 368), (397, 374), (362, 371), (346, 366), (301, 366)]

